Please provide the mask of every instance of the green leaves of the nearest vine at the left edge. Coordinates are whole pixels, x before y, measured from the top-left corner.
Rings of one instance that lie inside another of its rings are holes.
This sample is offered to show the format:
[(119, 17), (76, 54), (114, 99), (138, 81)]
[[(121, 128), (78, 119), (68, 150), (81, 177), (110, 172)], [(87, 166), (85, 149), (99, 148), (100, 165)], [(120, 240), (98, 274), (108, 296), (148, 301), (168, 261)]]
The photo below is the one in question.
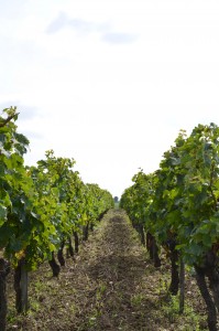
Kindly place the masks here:
[(12, 260), (23, 254), (37, 222), (32, 213), (32, 180), (23, 164), (29, 140), (17, 132), (17, 118), (12, 107), (0, 117), (0, 248)]

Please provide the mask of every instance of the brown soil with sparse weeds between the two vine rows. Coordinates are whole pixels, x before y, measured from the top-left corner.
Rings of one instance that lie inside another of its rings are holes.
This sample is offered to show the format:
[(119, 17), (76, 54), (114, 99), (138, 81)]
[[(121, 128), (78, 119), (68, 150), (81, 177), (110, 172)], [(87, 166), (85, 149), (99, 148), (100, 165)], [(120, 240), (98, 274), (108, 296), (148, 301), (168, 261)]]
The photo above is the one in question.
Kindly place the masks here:
[(195, 280), (178, 316), (177, 300), (166, 298), (168, 274), (151, 265), (125, 214), (111, 211), (58, 279), (47, 265), (31, 275), (31, 310), (18, 318), (10, 308), (8, 330), (205, 330)]

